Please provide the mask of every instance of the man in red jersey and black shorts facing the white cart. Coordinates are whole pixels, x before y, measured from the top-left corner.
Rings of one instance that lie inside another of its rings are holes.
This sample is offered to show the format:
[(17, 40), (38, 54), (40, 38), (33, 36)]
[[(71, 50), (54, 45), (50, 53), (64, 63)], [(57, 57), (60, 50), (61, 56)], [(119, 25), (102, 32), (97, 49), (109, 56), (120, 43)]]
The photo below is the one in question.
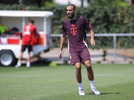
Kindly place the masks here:
[(33, 51), (33, 43), (34, 37), (36, 36), (36, 27), (34, 26), (34, 20), (30, 20), (30, 22), (24, 26), (24, 32), (22, 34), (22, 46), (21, 46), (21, 53), (18, 59), (18, 63), (15, 66), (16, 68), (21, 66), (21, 59), (23, 56), (23, 52), (25, 49), (28, 49), (28, 56), (27, 56), (27, 67), (30, 67), (30, 52)]

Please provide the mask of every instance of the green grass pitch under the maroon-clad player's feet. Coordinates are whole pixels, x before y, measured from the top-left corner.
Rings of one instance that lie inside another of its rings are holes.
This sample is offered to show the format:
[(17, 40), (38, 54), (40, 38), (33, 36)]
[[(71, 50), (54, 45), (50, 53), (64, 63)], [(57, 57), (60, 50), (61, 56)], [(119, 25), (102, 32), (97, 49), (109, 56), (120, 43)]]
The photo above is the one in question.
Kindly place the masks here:
[(78, 95), (74, 66), (0, 67), (0, 100), (134, 100), (134, 64), (92, 64), (92, 67), (101, 95), (91, 93), (83, 65), (85, 96)]

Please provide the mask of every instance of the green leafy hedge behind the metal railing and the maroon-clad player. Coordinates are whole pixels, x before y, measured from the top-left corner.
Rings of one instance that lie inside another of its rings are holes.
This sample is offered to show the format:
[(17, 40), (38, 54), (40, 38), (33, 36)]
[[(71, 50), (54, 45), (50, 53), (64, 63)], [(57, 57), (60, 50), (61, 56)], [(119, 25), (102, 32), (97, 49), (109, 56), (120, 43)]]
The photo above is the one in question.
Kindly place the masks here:
[[(77, 7), (76, 15), (85, 17), (92, 25), (95, 34), (105, 33), (134, 33), (134, 6), (93, 6)], [(41, 10), (52, 11), (52, 33), (62, 34), (62, 22), (67, 18), (66, 7), (50, 7), (37, 5), (4, 5), (0, 4), (0, 10)], [(89, 39), (90, 40), (90, 39)], [(60, 39), (53, 38), (54, 46), (59, 47)], [(95, 37), (96, 47), (113, 48), (113, 37)], [(67, 43), (66, 43), (67, 44)], [(88, 41), (90, 45), (90, 41)], [(132, 48), (134, 37), (118, 37), (117, 48)], [(94, 48), (90, 46), (91, 48)]]

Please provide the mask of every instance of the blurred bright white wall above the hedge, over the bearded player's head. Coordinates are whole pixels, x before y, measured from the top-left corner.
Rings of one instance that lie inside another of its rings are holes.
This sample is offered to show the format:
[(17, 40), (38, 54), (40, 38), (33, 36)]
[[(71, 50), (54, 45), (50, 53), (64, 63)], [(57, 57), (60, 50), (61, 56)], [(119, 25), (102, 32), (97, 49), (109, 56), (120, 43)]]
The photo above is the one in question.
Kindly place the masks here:
[[(68, 5), (70, 3), (74, 4), (75, 6), (81, 6), (81, 0), (54, 0), (54, 2), (60, 5)], [(83, 6), (88, 6), (87, 0), (83, 0)]]

